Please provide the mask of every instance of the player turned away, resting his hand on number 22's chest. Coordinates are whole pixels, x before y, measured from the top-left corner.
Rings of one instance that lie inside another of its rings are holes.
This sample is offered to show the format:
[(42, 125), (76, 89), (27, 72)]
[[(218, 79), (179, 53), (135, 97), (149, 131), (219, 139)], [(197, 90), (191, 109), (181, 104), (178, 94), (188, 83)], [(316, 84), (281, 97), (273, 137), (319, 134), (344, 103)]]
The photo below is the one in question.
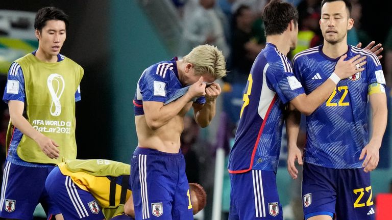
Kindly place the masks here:
[(229, 155), (229, 219), (282, 219), (276, 171), (287, 103), (311, 114), (327, 100), (341, 78), (351, 76), (357, 71), (356, 65), (365, 63), (360, 56), (340, 59), (324, 84), (306, 95), (286, 57), (297, 44), (297, 10), (288, 3), (271, 1), (264, 8), (263, 20), (267, 44), (249, 74)]

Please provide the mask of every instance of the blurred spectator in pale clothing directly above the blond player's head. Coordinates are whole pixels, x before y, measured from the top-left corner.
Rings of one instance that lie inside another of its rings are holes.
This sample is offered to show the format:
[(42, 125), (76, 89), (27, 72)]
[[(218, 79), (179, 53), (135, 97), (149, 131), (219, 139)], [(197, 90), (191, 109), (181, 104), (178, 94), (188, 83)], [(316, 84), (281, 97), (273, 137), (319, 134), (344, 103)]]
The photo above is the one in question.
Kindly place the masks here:
[(184, 7), (181, 56), (195, 46), (210, 44), (218, 47), (228, 57), (230, 51), (225, 38), (224, 15), (215, 7), (215, 0), (188, 0)]

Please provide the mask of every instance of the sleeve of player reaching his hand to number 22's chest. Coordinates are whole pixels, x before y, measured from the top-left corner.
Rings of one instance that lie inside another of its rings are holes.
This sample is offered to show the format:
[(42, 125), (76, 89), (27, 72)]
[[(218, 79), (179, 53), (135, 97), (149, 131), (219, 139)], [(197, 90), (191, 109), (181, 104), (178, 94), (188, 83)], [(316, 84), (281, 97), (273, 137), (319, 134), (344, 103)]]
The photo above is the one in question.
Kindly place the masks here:
[(266, 81), (268, 87), (277, 93), (283, 103), (287, 103), (305, 93), (301, 82), (298, 81), (289, 65), (283, 66), (283, 68), (273, 68), (273, 71), (267, 71)]

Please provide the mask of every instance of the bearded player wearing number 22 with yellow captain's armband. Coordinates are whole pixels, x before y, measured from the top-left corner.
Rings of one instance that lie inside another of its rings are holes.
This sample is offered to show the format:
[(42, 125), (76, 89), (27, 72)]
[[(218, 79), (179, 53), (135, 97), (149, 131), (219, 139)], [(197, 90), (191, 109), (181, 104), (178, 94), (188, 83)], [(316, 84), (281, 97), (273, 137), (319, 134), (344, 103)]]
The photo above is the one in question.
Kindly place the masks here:
[[(374, 219), (369, 172), (377, 167), (386, 127), (385, 79), (374, 53), (347, 44), (347, 31), (354, 23), (350, 1), (324, 0), (321, 6), (324, 44), (298, 53), (293, 60), (305, 92), (317, 90), (342, 59), (360, 54), (367, 63), (339, 81), (329, 98), (306, 117), (305, 219)], [(367, 101), (373, 112), (370, 141)], [(290, 136), (292, 131), (288, 132)], [(288, 157), (295, 158), (299, 151), (297, 146), (289, 146)]]

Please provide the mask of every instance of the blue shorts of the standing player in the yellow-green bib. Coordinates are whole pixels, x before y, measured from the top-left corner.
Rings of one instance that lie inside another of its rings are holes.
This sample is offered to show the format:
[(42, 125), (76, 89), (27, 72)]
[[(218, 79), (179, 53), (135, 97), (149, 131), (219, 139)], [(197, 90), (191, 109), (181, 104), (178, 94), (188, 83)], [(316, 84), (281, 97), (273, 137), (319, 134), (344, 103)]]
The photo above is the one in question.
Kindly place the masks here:
[(6, 160), (0, 199), (0, 217), (33, 219), (35, 207), (41, 203), (47, 219), (60, 213), (45, 190), (47, 175), (54, 168), (18, 166)]

